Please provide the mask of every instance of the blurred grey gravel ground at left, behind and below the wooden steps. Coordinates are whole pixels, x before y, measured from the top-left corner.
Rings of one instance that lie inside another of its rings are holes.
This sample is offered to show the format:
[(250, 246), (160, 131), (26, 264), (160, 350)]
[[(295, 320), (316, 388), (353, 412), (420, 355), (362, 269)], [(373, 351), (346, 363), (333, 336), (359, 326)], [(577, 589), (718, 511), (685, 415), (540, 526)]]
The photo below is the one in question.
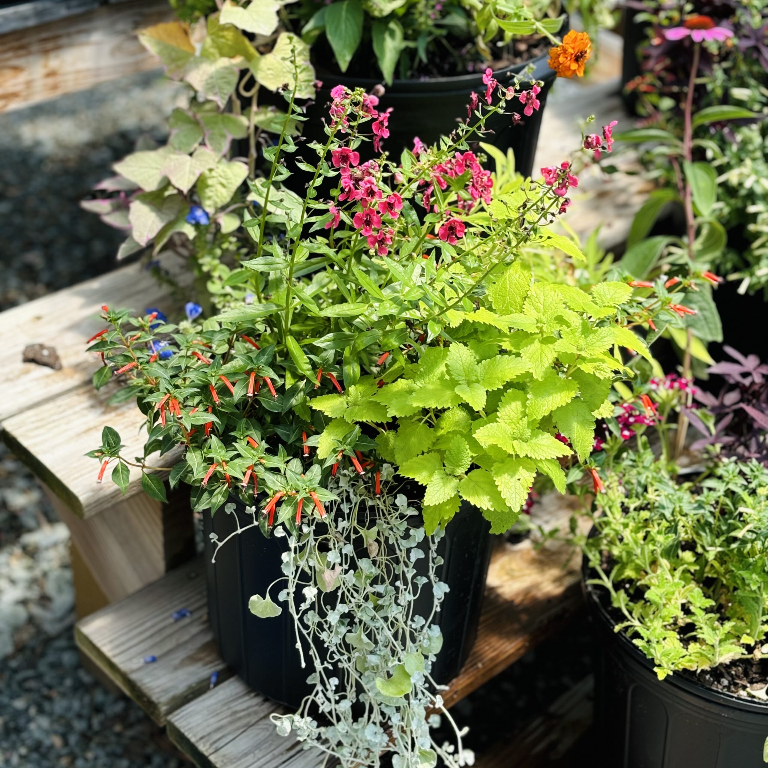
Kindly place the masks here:
[[(178, 98), (149, 73), (0, 115), (0, 310), (114, 267), (121, 233), (78, 200)], [(73, 606), (68, 531), (0, 444), (0, 768), (190, 765), (81, 667)]]

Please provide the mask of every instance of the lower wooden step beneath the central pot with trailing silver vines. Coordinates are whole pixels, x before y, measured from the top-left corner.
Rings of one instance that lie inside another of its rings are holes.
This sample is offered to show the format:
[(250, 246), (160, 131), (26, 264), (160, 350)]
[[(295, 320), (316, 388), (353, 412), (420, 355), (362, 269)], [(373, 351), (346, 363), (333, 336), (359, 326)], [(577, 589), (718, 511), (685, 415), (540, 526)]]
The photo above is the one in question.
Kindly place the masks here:
[[(574, 499), (546, 496), (538, 505), (542, 525), (563, 525)], [(478, 639), (462, 673), (444, 697), (449, 706), (558, 631), (581, 606), (578, 558), (554, 541), (536, 549), (498, 541), (485, 588)], [(174, 611), (191, 616), (173, 621)], [(207, 621), (204, 564), (195, 561), (149, 587), (80, 621), (78, 646), (157, 721), (168, 723), (174, 743), (199, 766), (246, 766), (245, 756), (272, 754), (264, 766), (305, 766), (290, 741), (277, 737), (268, 720), (276, 705), (265, 703), (239, 680), (208, 690), (210, 676), (230, 673), (217, 654)], [(146, 657), (157, 657), (145, 664)], [(237, 717), (212, 719), (224, 700)], [(269, 707), (273, 707), (270, 709)], [(267, 734), (265, 736), (265, 733)], [(278, 745), (278, 746), (276, 746)], [(302, 754), (303, 753), (299, 753)], [(270, 758), (271, 760), (272, 758)], [(280, 762), (283, 761), (283, 762)], [(307, 768), (310, 764), (306, 763)], [(263, 768), (260, 763), (260, 768)]]

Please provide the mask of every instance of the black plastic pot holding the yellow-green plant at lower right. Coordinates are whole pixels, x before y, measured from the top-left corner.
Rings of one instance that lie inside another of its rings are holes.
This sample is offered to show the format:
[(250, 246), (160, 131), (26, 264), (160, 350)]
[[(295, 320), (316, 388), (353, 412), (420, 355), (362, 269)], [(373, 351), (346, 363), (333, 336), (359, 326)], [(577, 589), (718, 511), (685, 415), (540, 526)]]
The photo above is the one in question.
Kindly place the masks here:
[(681, 674), (659, 680), (641, 650), (614, 631), (599, 590), (584, 580), (598, 637), (594, 723), (602, 764), (765, 768), (768, 704), (723, 694)]

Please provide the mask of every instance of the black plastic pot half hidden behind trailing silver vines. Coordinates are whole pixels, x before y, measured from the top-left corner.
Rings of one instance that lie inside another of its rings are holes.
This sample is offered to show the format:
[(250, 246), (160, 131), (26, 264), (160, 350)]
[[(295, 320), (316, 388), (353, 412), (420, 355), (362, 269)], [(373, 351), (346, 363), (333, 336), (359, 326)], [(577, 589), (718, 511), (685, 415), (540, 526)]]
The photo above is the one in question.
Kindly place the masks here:
[[(263, 596), (283, 576), (280, 566), (287, 549), (286, 538), (266, 538), (259, 528), (250, 528), (227, 541), (212, 563), (214, 545), (210, 533), (223, 541), (237, 529), (235, 515), (240, 525), (251, 521), (242, 502), (234, 497), (230, 501), (236, 505), (232, 513), (223, 508), (213, 518), (204, 513), (208, 614), (214, 637), (221, 657), (242, 680), (260, 694), (296, 709), (310, 693), (306, 678), (313, 669), (301, 667), (293, 619), (281, 603), (283, 612), (272, 618), (258, 618), (248, 610), (253, 594)], [(439, 544), (438, 554), (444, 561), (439, 578), (450, 590), (435, 617), (443, 636), (442, 650), (432, 667), (432, 677), (439, 684), (448, 683), (458, 674), (475, 643), (491, 558), (489, 531), (482, 512), (464, 502)], [(417, 564), (424, 562), (422, 558)], [(276, 600), (276, 591), (270, 591), (270, 595)], [(432, 609), (432, 592), (420, 599), (425, 604), (419, 610), (417, 601), (415, 612), (427, 617)]]

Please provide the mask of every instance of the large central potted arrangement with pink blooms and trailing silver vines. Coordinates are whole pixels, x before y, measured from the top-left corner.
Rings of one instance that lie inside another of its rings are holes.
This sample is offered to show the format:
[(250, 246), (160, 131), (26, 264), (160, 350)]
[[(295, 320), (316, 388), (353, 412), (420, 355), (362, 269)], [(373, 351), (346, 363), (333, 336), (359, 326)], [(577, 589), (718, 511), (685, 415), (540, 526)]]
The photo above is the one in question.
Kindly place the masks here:
[[(458, 765), (460, 737), (455, 753), (433, 743), (428, 713), (449, 717), (433, 684), (471, 644), (488, 528), (515, 521), (538, 472), (564, 488), (558, 458), (572, 451), (555, 435), (589, 455), (611, 383), (627, 372), (619, 347), (648, 356), (629, 326), (653, 322), (674, 296), (532, 280), (516, 258), (524, 245), (583, 259), (548, 228), (578, 179), (564, 161), (541, 182), (494, 185), (468, 140), (507, 106), (501, 85), (439, 147), (399, 164), (362, 162), (365, 142), (382, 139), (378, 118), (369, 94), (339, 86), (324, 141), (299, 154), (296, 50), (266, 176), (254, 150), (185, 176), (183, 189), (161, 157), (156, 188), (131, 200), (131, 214), (168, 206), (192, 228), (211, 310), (190, 302), (170, 323), (159, 310), (102, 308), (94, 383), (124, 382), (116, 397), (147, 415), (147, 443), (134, 461), (107, 427), (91, 455), (100, 479), (111, 467), (125, 488), (141, 472), (156, 498), (164, 485), (146, 460), (167, 456), (170, 484), (210, 509), (209, 552), (237, 541), (233, 567), (253, 594), (217, 582), (225, 546), (208, 565), (210, 614), (225, 660), (260, 690), (292, 701), (290, 686), (306, 680), (298, 712), (276, 718), (281, 732), (350, 766), (386, 751), (402, 766)], [(190, 144), (170, 153), (179, 164), (203, 154)], [(135, 175), (157, 157), (120, 169)], [(283, 185), (293, 167), (312, 172), (303, 198)], [(157, 247), (168, 230), (153, 227), (142, 238)], [(472, 566), (469, 592), (457, 552)], [(282, 665), (291, 674), (275, 676)]]

